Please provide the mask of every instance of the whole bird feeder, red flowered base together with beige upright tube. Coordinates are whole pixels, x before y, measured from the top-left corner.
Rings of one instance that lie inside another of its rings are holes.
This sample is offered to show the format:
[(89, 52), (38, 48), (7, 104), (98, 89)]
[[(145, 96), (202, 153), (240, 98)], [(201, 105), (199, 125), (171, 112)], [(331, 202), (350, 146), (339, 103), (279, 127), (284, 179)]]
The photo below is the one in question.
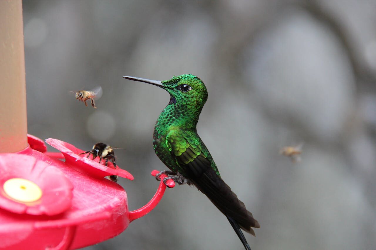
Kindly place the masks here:
[(126, 191), (104, 178), (133, 180), (129, 172), (57, 139), (46, 142), (60, 152), (47, 152), (43, 140), (27, 134), (21, 1), (0, 1), (0, 40), (0, 81), (7, 89), (0, 92), (0, 249), (82, 248), (119, 235), (152, 211), (172, 180), (129, 211)]

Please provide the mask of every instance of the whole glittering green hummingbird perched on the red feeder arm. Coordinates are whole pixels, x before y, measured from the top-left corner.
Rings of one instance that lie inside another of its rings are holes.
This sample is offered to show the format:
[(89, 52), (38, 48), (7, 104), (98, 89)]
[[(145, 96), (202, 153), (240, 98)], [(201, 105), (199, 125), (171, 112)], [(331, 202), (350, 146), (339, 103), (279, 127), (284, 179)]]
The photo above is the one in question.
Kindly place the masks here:
[(217, 165), (197, 134), (197, 122), (208, 99), (205, 84), (195, 75), (179, 75), (166, 81), (138, 77), (123, 78), (149, 83), (170, 93), (170, 101), (155, 123), (153, 148), (159, 159), (170, 170), (164, 170), (177, 184), (194, 185), (227, 217), (231, 226), (247, 250), (250, 246), (243, 229), (255, 236), (252, 227), (260, 224), (223, 181)]

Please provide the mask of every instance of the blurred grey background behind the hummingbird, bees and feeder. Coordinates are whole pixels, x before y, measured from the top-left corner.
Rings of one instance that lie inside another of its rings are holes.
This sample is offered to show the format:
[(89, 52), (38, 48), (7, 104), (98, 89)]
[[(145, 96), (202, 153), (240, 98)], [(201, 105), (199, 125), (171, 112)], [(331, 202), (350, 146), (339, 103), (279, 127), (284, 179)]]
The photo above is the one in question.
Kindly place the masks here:
[[(24, 1), (29, 133), (117, 163), (130, 210), (153, 196), (155, 86), (195, 74), (209, 92), (198, 132), (261, 224), (257, 249), (376, 249), (376, 1)], [(103, 87), (97, 109), (69, 90)], [(303, 142), (302, 161), (279, 149)], [(121, 235), (85, 248), (243, 249), (194, 187)]]

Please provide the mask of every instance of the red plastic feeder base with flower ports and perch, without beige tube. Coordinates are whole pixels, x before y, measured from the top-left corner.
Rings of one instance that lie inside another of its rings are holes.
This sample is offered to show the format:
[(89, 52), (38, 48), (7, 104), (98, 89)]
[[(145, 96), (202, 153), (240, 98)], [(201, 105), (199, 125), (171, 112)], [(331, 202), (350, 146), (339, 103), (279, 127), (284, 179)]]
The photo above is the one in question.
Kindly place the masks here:
[[(149, 203), (128, 211), (124, 189), (104, 177), (133, 180), (130, 173), (79, 155), (84, 151), (69, 143), (46, 142), (61, 153), (48, 153), (42, 140), (28, 135), (29, 147), (0, 154), (0, 249), (57, 250), (97, 244), (123, 232), (162, 199), (163, 181)], [(50, 155), (64, 156), (65, 162)], [(152, 175), (157, 173), (154, 170)], [(167, 185), (175, 183), (168, 180)]]

